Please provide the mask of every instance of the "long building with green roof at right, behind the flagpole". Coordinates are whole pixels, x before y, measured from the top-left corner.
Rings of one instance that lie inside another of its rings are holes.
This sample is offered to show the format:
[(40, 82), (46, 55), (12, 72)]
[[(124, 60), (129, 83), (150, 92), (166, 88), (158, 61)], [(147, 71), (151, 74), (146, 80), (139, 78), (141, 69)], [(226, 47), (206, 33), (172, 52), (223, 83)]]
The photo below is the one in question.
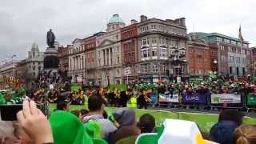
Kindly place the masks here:
[[(249, 42), (241, 43), (238, 38), (232, 38), (218, 33), (194, 33), (196, 38), (204, 39), (210, 49), (217, 49), (218, 74), (224, 76), (245, 76), (250, 74)], [(215, 51), (213, 51), (215, 53)]]

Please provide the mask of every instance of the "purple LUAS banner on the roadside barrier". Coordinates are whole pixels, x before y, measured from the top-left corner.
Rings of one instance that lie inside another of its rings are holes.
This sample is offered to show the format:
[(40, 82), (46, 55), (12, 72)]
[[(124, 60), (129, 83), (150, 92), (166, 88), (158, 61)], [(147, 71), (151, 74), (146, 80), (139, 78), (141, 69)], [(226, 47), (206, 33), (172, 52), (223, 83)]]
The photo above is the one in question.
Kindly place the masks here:
[(182, 96), (182, 103), (189, 104), (206, 104), (207, 103), (207, 93), (186, 93)]

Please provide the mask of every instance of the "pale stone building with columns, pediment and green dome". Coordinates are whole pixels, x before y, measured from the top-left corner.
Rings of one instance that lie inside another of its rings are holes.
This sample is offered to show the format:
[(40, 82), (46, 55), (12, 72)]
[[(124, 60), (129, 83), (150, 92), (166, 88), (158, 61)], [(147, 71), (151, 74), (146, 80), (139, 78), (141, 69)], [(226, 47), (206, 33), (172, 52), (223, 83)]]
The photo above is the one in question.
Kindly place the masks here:
[(108, 86), (122, 81), (121, 28), (126, 26), (118, 14), (107, 23), (106, 33), (96, 38), (97, 84)]

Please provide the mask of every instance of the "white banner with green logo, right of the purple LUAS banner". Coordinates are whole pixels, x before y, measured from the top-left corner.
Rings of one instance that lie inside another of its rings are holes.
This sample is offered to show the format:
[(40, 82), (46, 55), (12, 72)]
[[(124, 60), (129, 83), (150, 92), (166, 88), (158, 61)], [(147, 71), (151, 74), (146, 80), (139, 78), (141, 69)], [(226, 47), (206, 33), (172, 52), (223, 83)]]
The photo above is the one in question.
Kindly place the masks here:
[(211, 103), (241, 103), (241, 94), (211, 94)]

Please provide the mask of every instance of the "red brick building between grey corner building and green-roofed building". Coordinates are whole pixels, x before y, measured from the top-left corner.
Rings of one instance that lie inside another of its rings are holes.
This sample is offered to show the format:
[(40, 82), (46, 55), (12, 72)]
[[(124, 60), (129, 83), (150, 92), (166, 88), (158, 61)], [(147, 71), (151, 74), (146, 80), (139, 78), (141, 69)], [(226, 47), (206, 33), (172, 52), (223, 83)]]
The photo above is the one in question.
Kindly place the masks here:
[(202, 39), (190, 37), (186, 47), (186, 61), (190, 75), (207, 75), (211, 70), (210, 48)]

